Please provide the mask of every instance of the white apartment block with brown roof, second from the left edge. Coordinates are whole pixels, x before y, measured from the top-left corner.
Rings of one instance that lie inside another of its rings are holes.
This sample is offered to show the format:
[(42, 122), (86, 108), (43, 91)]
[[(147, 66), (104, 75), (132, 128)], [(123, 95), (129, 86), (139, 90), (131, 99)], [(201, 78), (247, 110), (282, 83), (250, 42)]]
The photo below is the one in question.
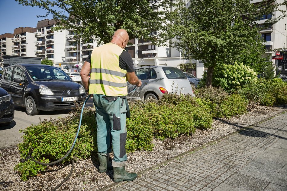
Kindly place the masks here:
[(11, 46), (13, 56), (35, 57), (34, 32), (36, 28), (32, 27), (19, 27), (14, 30)]

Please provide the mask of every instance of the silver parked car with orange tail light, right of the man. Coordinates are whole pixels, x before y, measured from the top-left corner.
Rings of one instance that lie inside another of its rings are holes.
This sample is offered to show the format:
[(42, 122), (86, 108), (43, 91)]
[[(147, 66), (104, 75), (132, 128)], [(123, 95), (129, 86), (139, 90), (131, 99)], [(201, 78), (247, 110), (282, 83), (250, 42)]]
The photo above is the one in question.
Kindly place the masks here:
[[(142, 81), (138, 90), (127, 95), (129, 99), (159, 99), (163, 93), (191, 94), (192, 87), (181, 70), (169, 66), (146, 66), (135, 69), (137, 77)], [(128, 83), (128, 91), (134, 85)], [(137, 94), (139, 91), (139, 95)]]

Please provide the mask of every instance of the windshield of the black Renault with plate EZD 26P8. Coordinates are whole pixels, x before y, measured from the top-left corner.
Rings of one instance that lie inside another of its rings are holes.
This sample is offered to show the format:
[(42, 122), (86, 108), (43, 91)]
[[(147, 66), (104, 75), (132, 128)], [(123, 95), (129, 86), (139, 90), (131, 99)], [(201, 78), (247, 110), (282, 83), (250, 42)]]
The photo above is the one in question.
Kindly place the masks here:
[(26, 70), (34, 81), (68, 80), (73, 81), (63, 70), (49, 65), (26, 66)]

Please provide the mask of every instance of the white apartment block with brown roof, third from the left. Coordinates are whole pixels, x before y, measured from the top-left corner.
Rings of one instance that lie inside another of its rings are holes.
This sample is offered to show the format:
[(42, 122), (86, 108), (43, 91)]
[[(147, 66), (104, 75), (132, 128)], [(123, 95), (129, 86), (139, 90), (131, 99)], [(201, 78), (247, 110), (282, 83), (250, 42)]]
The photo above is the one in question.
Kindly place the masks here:
[(54, 19), (38, 21), (34, 32), (34, 52), (38, 58), (61, 63), (65, 60), (65, 30), (53, 31), (52, 27), (56, 27)]

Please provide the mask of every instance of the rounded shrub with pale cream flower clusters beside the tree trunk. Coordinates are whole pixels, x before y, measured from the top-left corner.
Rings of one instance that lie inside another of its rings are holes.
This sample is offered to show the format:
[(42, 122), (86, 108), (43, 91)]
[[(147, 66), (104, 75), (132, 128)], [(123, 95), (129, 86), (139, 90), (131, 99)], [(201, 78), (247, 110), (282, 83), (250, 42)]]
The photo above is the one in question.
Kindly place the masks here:
[(256, 73), (243, 63), (223, 64), (214, 68), (212, 85), (221, 87), (227, 92), (235, 92), (240, 86), (256, 81)]

